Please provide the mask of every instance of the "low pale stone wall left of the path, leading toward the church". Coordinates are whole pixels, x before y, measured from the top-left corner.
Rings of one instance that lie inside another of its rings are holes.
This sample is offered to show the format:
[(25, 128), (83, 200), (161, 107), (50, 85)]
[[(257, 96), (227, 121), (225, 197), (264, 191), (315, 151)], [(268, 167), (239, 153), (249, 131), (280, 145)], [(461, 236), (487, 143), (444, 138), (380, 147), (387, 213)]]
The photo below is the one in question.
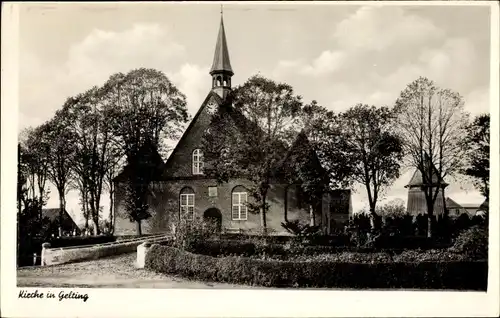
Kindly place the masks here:
[(106, 256), (135, 252), (137, 246), (145, 241), (159, 243), (168, 240), (168, 236), (152, 235), (121, 242), (112, 242), (96, 245), (74, 246), (65, 248), (50, 248), (50, 244), (42, 245), (42, 266), (81, 262), (98, 259)]

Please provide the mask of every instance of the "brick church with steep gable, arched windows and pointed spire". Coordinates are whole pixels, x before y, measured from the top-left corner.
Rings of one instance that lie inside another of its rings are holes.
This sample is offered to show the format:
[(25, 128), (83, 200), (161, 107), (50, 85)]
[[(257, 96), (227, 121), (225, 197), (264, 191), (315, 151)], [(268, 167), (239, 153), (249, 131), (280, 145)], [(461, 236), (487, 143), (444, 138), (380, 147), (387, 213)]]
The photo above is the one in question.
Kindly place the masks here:
[[(223, 232), (261, 233), (261, 216), (251, 213), (247, 207), (252, 199), (247, 191), (249, 181), (241, 178), (218, 184), (203, 173), (202, 136), (214, 110), (227, 106), (233, 75), (221, 16), (210, 77), (207, 76), (210, 91), (167, 161), (163, 162), (158, 154), (153, 154), (160, 172), (151, 187), (148, 202), (152, 217), (142, 221), (142, 233), (169, 232), (179, 220), (195, 218), (215, 218)], [(284, 158), (290, 151), (292, 148), (284, 152)], [(126, 169), (114, 181), (116, 235), (136, 233), (136, 225), (129, 220), (124, 209)], [(268, 194), (270, 207), (266, 214), (270, 234), (286, 234), (281, 223), (293, 220), (318, 225), (324, 233), (329, 233), (336, 220), (348, 219), (352, 213), (350, 190), (325, 193), (311, 211), (302, 203), (298, 189), (297, 185), (281, 181), (271, 185)]]

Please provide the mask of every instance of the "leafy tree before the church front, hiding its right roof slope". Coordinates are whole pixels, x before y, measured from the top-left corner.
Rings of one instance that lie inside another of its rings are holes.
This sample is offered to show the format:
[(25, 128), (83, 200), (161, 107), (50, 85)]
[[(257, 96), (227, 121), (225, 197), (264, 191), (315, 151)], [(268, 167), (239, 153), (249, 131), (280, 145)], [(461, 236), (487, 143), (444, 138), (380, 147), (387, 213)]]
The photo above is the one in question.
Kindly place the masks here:
[(232, 91), (203, 137), (204, 173), (221, 183), (240, 177), (250, 181), (249, 211), (260, 213), (264, 234), (268, 192), (301, 107), (290, 85), (255, 75)]

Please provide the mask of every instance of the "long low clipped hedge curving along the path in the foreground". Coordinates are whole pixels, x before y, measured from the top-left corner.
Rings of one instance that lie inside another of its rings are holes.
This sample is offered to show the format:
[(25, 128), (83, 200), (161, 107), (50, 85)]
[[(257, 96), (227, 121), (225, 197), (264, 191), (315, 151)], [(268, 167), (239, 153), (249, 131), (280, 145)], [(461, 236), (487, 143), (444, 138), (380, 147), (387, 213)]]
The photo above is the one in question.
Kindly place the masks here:
[(211, 257), (154, 244), (146, 268), (204, 281), (266, 287), (486, 290), (486, 261), (337, 263)]

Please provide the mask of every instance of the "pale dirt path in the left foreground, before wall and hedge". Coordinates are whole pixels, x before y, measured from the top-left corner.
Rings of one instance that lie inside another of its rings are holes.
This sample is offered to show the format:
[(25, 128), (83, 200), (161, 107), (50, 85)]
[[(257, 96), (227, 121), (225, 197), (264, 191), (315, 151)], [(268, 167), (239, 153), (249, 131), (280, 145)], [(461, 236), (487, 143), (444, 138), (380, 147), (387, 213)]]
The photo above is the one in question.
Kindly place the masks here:
[(17, 270), (18, 287), (251, 288), (191, 281), (134, 267), (135, 253), (93, 261)]

